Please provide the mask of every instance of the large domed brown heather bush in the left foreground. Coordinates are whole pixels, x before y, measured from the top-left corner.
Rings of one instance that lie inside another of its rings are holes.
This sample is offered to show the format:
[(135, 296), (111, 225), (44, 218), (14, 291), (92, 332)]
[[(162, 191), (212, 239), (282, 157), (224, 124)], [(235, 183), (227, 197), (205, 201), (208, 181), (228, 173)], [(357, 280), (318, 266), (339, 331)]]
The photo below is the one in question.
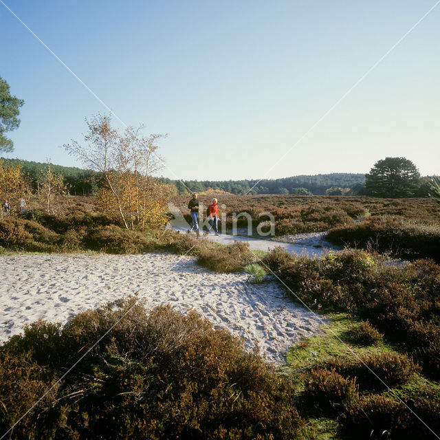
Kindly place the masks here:
[(148, 314), (135, 298), (78, 314), (59, 331), (28, 327), (0, 356), (8, 404), (0, 430), (18, 421), (16, 439), (295, 439), (303, 426), (292, 382), (239, 338), (193, 312)]

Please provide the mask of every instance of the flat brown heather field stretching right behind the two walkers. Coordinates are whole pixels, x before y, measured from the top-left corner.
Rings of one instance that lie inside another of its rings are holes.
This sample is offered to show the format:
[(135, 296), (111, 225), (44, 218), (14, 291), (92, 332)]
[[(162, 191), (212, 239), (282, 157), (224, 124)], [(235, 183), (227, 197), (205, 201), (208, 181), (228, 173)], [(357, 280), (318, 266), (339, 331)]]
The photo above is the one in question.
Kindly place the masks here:
[[(208, 195), (199, 196), (205, 207), (211, 198), (212, 196)], [(274, 216), (276, 235), (322, 232), (331, 228), (355, 228), (358, 219), (370, 216), (374, 221), (383, 216), (399, 216), (425, 222), (440, 221), (440, 206), (430, 199), (294, 195), (219, 195), (218, 198), (220, 211), (225, 216), (228, 229), (232, 228), (234, 213), (238, 219), (237, 227), (248, 226), (245, 217), (248, 215), (255, 230), (260, 223), (268, 220), (264, 213), (269, 212)], [(190, 221), (188, 197), (174, 197), (173, 203)], [(263, 227), (264, 230), (267, 230), (267, 227)]]

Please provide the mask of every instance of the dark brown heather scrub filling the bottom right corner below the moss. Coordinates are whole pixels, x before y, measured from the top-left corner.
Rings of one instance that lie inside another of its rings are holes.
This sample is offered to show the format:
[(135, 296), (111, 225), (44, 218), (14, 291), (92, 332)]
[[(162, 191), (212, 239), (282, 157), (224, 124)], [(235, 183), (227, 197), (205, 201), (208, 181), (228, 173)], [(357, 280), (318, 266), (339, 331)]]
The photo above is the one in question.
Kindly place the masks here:
[[(382, 355), (375, 356), (375, 365), (381, 366)], [(368, 360), (368, 358), (365, 358)], [(407, 363), (410, 361), (406, 361)], [(434, 439), (440, 430), (440, 388), (437, 384), (412, 380), (405, 371), (392, 373), (399, 377), (392, 391), (362, 390), (358, 384), (360, 373), (343, 367), (343, 360), (336, 362), (342, 368), (316, 366), (303, 373), (303, 401), (313, 407), (311, 414), (326, 415), (338, 419), (342, 438), (359, 439)], [(385, 361), (384, 369), (391, 372)], [(373, 376), (370, 374), (370, 376)], [(388, 380), (390, 378), (388, 377)], [(371, 379), (368, 379), (371, 382)]]

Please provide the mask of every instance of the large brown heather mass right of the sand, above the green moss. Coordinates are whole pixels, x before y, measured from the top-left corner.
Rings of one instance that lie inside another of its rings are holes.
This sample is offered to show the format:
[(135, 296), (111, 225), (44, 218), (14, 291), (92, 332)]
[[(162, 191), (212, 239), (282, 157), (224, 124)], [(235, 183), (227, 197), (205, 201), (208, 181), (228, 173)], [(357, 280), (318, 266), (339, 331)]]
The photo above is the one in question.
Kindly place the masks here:
[(369, 319), (404, 344), (426, 373), (440, 377), (439, 265), (427, 260), (392, 265), (361, 250), (321, 259), (282, 255), (272, 251), (265, 261), (272, 267), (276, 260), (283, 263), (278, 276), (309, 307), (337, 307)]

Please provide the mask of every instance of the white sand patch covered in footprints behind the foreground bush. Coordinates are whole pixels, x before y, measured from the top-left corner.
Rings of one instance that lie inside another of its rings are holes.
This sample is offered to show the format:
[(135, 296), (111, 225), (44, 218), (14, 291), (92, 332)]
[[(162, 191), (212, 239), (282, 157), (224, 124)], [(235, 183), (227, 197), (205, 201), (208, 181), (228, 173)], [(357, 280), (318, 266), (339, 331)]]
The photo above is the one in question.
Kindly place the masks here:
[[(80, 311), (137, 292), (153, 308), (195, 309), (214, 326), (258, 344), (267, 360), (284, 362), (295, 340), (319, 331), (320, 320), (292, 302), (274, 281), (217, 274), (195, 258), (173, 254), (45, 254), (0, 256), (0, 340), (38, 319), (65, 324)], [(97, 335), (98, 338), (98, 335)]]

